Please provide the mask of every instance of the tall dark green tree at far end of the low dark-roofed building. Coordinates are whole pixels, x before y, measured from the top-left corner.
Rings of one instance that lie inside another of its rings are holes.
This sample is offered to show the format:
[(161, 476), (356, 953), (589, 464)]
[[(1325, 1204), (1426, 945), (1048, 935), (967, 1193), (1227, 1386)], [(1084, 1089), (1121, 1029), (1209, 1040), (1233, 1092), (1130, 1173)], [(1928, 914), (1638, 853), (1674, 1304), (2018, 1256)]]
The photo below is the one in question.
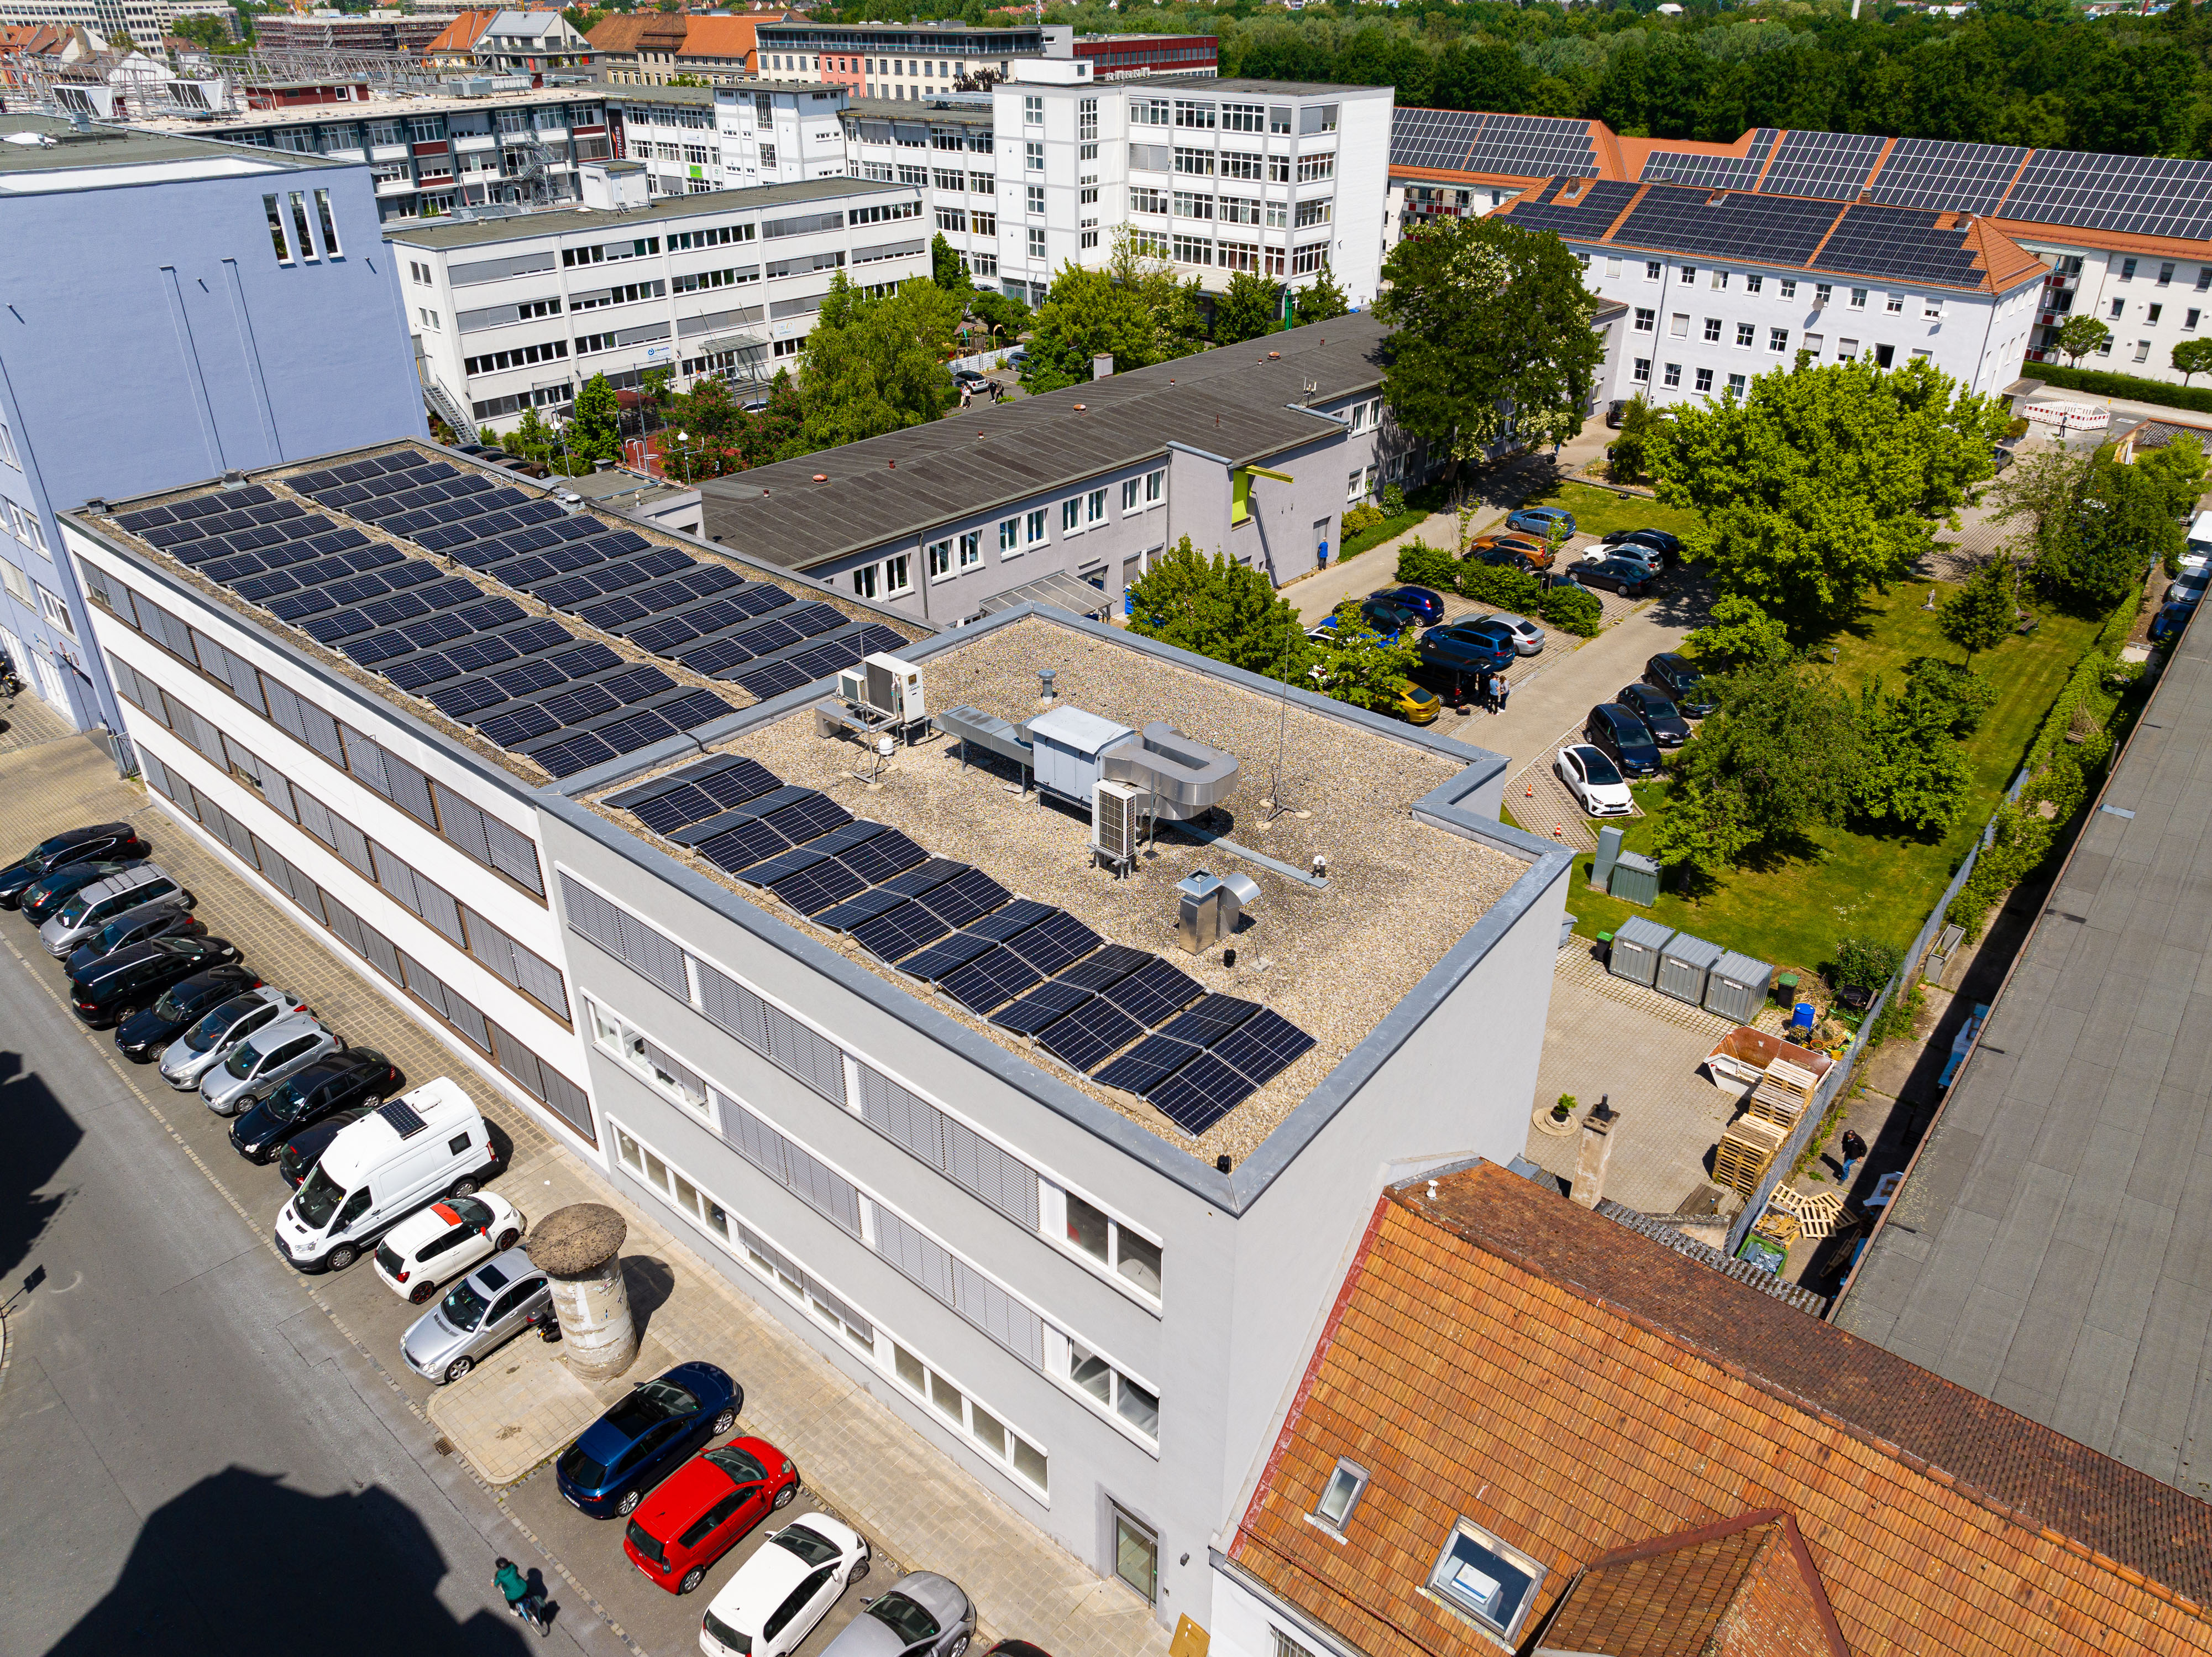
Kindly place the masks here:
[(1391, 330), (1383, 396), (1453, 460), (1582, 429), (1604, 345), (1597, 296), (1555, 235), (1436, 219), (1391, 248), (1376, 316)]

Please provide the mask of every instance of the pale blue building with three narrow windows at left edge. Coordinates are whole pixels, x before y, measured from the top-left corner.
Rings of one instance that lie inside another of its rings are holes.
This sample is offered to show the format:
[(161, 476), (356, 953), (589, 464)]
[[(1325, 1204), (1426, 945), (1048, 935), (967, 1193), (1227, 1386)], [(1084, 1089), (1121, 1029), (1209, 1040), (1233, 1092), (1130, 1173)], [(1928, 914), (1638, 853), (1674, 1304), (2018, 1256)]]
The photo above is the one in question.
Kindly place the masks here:
[(73, 726), (122, 730), (58, 513), (420, 434), (422, 400), (365, 168), (42, 115), (0, 137), (0, 644)]

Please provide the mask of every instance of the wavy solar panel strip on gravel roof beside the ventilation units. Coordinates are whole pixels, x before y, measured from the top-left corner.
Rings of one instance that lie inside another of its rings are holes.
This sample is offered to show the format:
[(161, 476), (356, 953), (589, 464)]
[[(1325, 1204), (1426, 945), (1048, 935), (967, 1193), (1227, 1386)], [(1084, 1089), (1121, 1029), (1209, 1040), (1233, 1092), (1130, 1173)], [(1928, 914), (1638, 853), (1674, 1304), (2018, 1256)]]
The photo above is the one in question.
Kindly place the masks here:
[(1281, 1013), (1212, 996), (1159, 956), (1110, 945), (1066, 909), (929, 856), (754, 759), (717, 754), (606, 805), (1192, 1137), (1314, 1046)]

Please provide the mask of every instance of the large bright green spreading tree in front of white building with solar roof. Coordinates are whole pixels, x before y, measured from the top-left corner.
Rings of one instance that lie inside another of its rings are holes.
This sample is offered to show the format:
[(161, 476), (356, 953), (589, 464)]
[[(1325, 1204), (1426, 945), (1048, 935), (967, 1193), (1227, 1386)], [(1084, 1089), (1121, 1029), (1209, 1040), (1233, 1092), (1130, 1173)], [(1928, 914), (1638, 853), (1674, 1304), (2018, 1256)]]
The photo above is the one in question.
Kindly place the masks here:
[(1743, 398), (1681, 403), (1652, 436), (1659, 500), (1723, 593), (1756, 600), (1792, 637), (1847, 622), (1924, 553), (1966, 484), (1991, 473), (2004, 403), (1960, 392), (1927, 358), (1798, 363)]

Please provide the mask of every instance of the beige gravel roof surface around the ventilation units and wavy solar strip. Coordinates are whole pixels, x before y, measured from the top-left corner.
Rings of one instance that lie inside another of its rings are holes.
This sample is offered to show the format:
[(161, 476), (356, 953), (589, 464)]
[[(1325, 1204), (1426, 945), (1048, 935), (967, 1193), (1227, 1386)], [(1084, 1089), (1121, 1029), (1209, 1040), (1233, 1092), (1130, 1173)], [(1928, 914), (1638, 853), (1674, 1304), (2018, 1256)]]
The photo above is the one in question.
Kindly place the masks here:
[[(721, 876), (681, 847), (661, 843), (661, 850), (1164, 1142), (1208, 1164), (1221, 1153), (1241, 1164), (1504, 896), (1526, 865), (1413, 821), (1411, 803), (1460, 772), (1460, 761), (1449, 754), (1303, 708), (1285, 715), (1272, 697), (1046, 617), (1026, 617), (931, 657), (925, 668), (929, 706), (969, 704), (1020, 723), (1037, 712), (1037, 668), (1057, 668), (1062, 704), (1137, 730), (1166, 719), (1183, 734), (1237, 754), (1237, 785), (1219, 807), (1228, 823), (1217, 814), (1214, 827), (1294, 867), (1312, 867), (1314, 854), (1325, 854), (1329, 889), (1314, 892), (1172, 832), (1161, 834), (1155, 856), (1141, 858), (1133, 876), (1115, 880), (1106, 869), (1091, 867), (1086, 814), (1020, 794), (1009, 770), (962, 770), (958, 746), (947, 739), (900, 748), (878, 783), (863, 781), (874, 772), (874, 754), (856, 741), (818, 737), (812, 710), (743, 732), (719, 750), (750, 754), (787, 783), (827, 792), (854, 816), (905, 830), (936, 856), (971, 861), (1015, 896), (1062, 905), (1106, 942), (1152, 949), (1206, 989), (1272, 1007), (1316, 1038), (1305, 1057), (1197, 1139), (1141, 1100), (1068, 1071), (1044, 1049), (971, 1015), (838, 934), (807, 927), (765, 892)], [(1270, 812), (1276, 752), (1287, 805), (1281, 814)], [(697, 757), (686, 763), (697, 763)], [(639, 781), (624, 779), (622, 788)], [(644, 834), (628, 812), (606, 816)], [(1245, 911), (1250, 925), (1237, 938), (1234, 969), (1221, 965), (1219, 947), (1188, 956), (1175, 942), (1175, 885), (1194, 869), (1248, 874), (1259, 883), (1261, 900)]]

